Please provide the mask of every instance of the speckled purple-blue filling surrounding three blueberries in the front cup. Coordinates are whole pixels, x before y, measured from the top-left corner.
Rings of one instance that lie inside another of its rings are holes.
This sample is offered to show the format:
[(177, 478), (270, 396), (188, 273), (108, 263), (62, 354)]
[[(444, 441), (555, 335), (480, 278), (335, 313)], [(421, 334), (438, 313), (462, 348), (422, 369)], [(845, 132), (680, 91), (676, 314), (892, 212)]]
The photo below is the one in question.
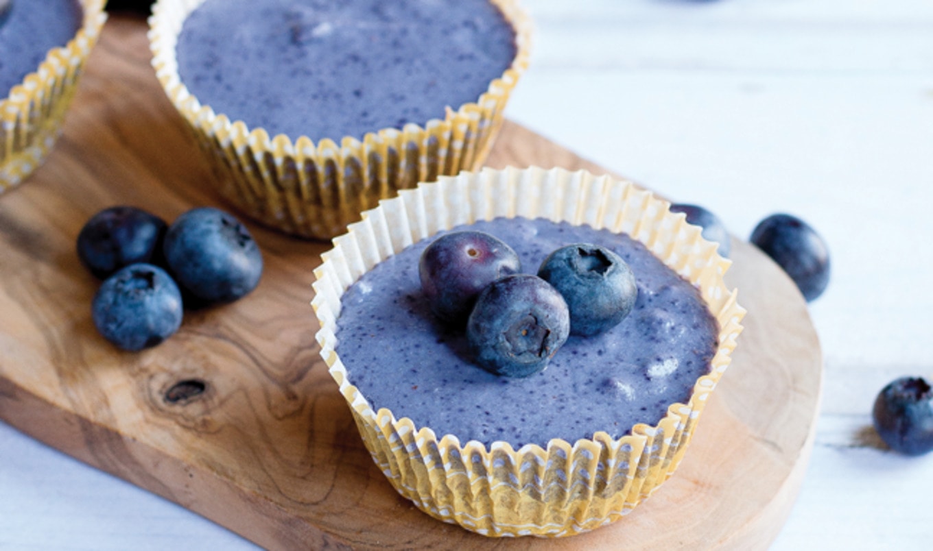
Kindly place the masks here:
[(418, 242), (369, 272), (342, 297), (337, 352), (352, 382), (376, 410), (411, 418), (436, 434), (486, 445), (545, 446), (636, 422), (657, 424), (667, 406), (687, 403), (709, 372), (717, 322), (699, 292), (639, 242), (592, 227), (537, 219), (496, 219), (472, 226), (506, 241), (535, 273), (551, 251), (591, 242), (620, 255), (638, 284), (634, 310), (597, 337), (571, 336), (548, 367), (508, 379), (469, 361), (466, 337), (431, 317), (418, 279)]

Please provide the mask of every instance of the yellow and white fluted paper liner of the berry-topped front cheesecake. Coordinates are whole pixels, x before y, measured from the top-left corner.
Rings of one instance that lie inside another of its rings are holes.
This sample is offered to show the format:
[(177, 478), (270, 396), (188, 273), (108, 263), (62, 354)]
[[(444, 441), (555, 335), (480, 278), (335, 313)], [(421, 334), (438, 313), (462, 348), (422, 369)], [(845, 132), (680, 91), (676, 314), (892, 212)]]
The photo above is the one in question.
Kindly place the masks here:
[[(700, 228), (672, 214), (669, 203), (631, 183), (589, 172), (539, 168), (463, 172), (402, 191), (363, 214), (334, 240), (315, 270), (312, 302), (317, 340), (330, 374), (353, 411), (373, 460), (392, 485), (432, 517), (490, 536), (567, 536), (592, 530), (630, 511), (671, 476), (703, 406), (730, 364), (745, 310), (722, 280), (729, 260)], [(341, 295), (383, 259), (437, 233), (498, 216), (543, 217), (624, 232), (643, 242), (696, 285), (719, 324), (711, 371), (696, 381), (688, 404), (673, 404), (656, 426), (634, 425), (547, 448), (486, 447), (435, 434), (392, 411), (373, 411), (347, 379), (336, 352)]]

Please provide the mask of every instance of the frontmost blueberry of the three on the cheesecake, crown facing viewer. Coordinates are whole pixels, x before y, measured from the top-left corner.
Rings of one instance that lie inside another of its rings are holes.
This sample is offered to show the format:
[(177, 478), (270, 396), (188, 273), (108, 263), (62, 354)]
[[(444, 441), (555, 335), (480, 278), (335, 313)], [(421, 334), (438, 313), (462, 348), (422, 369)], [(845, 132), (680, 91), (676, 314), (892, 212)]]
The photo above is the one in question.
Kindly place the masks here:
[(506, 377), (528, 377), (544, 369), (569, 334), (564, 297), (529, 274), (490, 283), (466, 324), (466, 341), (477, 364)]

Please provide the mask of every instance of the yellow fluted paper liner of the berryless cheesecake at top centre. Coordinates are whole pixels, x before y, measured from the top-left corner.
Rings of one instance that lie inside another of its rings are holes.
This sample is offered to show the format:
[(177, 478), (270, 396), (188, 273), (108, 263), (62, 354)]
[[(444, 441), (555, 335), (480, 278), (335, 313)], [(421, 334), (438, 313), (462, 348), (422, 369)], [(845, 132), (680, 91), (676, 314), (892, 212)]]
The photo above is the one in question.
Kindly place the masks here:
[[(261, 128), (215, 113), (178, 76), (175, 45), (188, 14), (204, 0), (159, 0), (149, 20), (153, 66), (188, 122), (220, 183), (220, 193), (245, 214), (286, 233), (330, 239), (359, 214), (400, 189), (439, 175), (478, 169), (502, 126), (502, 111), (528, 66), (531, 22), (517, 0), (491, 0), (515, 29), (516, 57), (477, 103), (448, 109), (443, 119), (315, 144), (270, 137)], [(374, 83), (378, 86), (378, 83)]]

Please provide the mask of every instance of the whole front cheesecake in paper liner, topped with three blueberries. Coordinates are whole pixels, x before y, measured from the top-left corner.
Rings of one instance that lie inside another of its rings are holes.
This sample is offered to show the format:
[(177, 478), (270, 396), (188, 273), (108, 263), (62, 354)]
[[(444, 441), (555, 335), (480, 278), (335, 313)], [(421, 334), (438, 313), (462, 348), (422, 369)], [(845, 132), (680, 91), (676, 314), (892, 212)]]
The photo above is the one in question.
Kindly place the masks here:
[(674, 472), (741, 332), (699, 232), (631, 184), (558, 169), (383, 201), (324, 255), (313, 301), (373, 460), (491, 536), (631, 511)]

